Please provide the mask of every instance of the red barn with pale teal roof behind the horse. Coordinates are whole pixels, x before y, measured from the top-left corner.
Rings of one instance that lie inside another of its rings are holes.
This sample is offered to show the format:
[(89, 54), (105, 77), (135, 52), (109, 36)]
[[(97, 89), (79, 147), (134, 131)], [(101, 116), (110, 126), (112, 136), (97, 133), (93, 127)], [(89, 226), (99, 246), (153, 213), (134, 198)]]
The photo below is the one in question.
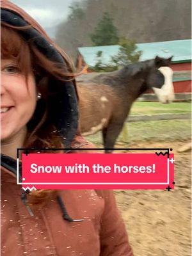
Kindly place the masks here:
[[(172, 58), (173, 86), (176, 100), (191, 99), (191, 40), (174, 40), (166, 42), (152, 42), (136, 44), (136, 51), (141, 51), (140, 61), (150, 60), (156, 56), (162, 58)], [(84, 61), (89, 67), (94, 67), (97, 63), (97, 52), (102, 52), (100, 60), (104, 65), (111, 65), (111, 56), (118, 54), (119, 45), (106, 45), (95, 47), (79, 47), (79, 52), (83, 55)], [(147, 92), (147, 93), (152, 93)], [(145, 95), (147, 96), (147, 95)], [(145, 97), (145, 100), (147, 97)], [(152, 96), (152, 95), (151, 95)], [(150, 100), (156, 100), (150, 97)]]

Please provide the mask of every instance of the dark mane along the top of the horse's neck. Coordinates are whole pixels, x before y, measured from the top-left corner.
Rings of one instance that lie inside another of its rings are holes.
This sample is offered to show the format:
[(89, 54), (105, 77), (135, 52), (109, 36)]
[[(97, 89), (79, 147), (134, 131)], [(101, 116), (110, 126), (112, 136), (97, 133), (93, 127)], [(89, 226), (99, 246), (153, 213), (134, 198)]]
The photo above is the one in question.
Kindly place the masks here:
[(154, 66), (154, 60), (140, 61), (137, 63), (131, 63), (113, 72), (106, 72), (93, 77), (92, 81), (97, 81), (104, 84), (115, 84), (116, 81), (120, 82), (124, 79), (130, 79), (136, 76), (141, 71), (146, 70)]

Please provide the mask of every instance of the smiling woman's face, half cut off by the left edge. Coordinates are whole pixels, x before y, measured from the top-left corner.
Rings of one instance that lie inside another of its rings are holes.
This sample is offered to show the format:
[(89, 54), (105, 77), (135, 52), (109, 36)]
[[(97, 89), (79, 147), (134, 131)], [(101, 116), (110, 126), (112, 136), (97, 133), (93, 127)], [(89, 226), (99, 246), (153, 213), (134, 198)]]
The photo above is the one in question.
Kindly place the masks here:
[(26, 127), (36, 107), (33, 72), (24, 76), (12, 59), (1, 60), (1, 141)]

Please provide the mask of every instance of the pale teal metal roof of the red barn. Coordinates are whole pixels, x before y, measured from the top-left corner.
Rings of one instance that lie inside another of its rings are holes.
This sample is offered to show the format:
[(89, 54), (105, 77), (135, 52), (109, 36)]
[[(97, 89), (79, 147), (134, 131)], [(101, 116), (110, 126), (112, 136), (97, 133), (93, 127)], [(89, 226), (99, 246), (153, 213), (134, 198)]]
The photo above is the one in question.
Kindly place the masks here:
[[(143, 52), (140, 61), (153, 59), (157, 55), (163, 58), (173, 56), (174, 63), (191, 61), (191, 39), (136, 45), (138, 47), (137, 51)], [(89, 66), (94, 66), (97, 63), (96, 54), (98, 51), (102, 51), (102, 63), (108, 65), (111, 62), (111, 56), (115, 56), (119, 48), (119, 45), (79, 47), (79, 51)]]

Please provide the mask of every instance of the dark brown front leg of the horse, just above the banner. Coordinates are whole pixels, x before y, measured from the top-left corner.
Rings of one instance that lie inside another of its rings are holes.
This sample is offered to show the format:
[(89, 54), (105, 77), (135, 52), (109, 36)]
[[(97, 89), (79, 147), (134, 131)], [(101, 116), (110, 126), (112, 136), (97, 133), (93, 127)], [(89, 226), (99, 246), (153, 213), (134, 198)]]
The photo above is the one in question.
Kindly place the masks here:
[(109, 122), (108, 127), (102, 130), (104, 148), (106, 153), (113, 152), (116, 139), (122, 131), (124, 123)]

